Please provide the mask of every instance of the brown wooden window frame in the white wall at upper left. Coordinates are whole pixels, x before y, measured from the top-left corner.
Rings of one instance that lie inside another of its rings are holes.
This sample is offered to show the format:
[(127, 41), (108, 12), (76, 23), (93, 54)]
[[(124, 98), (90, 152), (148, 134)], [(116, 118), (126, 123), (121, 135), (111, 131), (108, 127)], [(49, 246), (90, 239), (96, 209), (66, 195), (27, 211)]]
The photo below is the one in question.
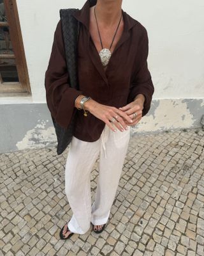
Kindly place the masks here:
[(8, 22), (0, 22), (0, 26), (9, 25), (13, 54), (0, 54), (0, 58), (15, 58), (19, 82), (0, 81), (0, 97), (31, 95), (31, 86), (25, 59), (24, 44), (18, 18), (16, 0), (4, 0), (4, 8)]

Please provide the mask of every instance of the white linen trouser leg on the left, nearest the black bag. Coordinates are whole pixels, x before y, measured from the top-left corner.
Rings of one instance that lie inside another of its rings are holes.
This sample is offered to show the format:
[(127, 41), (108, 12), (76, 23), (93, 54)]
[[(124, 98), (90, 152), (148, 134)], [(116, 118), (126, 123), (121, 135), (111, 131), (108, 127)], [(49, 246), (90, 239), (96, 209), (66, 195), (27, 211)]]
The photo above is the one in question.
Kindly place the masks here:
[(73, 211), (68, 228), (85, 234), (91, 223), (91, 170), (99, 154), (99, 140), (87, 142), (73, 136), (65, 168), (65, 192)]

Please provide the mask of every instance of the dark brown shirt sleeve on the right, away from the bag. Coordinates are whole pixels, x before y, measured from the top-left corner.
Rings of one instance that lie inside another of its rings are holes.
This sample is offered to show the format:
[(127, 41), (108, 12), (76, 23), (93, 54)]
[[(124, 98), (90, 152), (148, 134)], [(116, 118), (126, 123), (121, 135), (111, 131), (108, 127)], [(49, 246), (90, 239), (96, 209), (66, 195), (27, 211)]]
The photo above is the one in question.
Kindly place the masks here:
[[(152, 95), (154, 93), (154, 85), (152, 83), (152, 77), (150, 75), (147, 57), (149, 53), (149, 39), (147, 30), (143, 27), (143, 35), (138, 45), (139, 58), (136, 58), (137, 65), (135, 68), (133, 81), (129, 90), (128, 103), (133, 101), (139, 93), (145, 96), (145, 102), (143, 105), (142, 116), (146, 115), (150, 109), (150, 103)], [(138, 65), (139, 63), (139, 65)]]

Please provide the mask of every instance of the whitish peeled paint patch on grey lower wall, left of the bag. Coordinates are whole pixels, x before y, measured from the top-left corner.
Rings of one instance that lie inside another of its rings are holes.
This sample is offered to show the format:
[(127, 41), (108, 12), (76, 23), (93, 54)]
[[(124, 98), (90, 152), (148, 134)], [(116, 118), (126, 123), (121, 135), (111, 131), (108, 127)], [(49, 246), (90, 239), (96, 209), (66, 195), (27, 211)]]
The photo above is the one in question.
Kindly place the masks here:
[(57, 143), (54, 127), (45, 129), (45, 125), (46, 122), (42, 121), (41, 124), (37, 124), (33, 129), (27, 131), (24, 138), (16, 144), (18, 150), (46, 147), (47, 145)]

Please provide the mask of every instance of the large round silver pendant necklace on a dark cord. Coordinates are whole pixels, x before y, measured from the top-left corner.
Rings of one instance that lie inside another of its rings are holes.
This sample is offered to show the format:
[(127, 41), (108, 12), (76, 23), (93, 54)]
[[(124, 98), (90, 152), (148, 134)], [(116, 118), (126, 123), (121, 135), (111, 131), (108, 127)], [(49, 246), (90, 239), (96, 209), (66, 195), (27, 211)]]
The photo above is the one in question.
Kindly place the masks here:
[[(95, 15), (95, 19), (96, 19), (96, 6), (94, 6), (94, 15)], [(120, 20), (122, 19), (122, 13), (121, 13), (121, 16), (120, 16)], [(117, 33), (117, 30), (119, 29), (119, 25), (120, 25), (120, 20), (119, 20), (119, 24), (117, 25), (117, 29), (115, 31), (115, 35)], [(98, 28), (98, 21), (96, 19), (96, 24), (97, 24), (97, 28)], [(110, 60), (110, 57), (111, 57), (111, 52), (110, 52), (110, 49), (112, 47), (112, 44), (113, 44), (113, 41), (115, 39), (115, 35), (113, 36), (113, 40), (112, 40), (112, 43), (110, 45), (110, 48), (107, 49), (107, 48), (103, 48), (103, 44), (102, 44), (102, 40), (101, 40), (101, 35), (100, 35), (100, 32), (99, 32), (99, 28), (98, 28), (98, 35), (99, 35), (99, 38), (100, 38), (100, 42), (101, 42), (101, 47), (102, 47), (102, 50), (99, 52), (99, 56), (101, 58), (101, 63), (103, 65), (103, 67), (106, 67), (106, 65), (108, 65), (108, 62)]]

